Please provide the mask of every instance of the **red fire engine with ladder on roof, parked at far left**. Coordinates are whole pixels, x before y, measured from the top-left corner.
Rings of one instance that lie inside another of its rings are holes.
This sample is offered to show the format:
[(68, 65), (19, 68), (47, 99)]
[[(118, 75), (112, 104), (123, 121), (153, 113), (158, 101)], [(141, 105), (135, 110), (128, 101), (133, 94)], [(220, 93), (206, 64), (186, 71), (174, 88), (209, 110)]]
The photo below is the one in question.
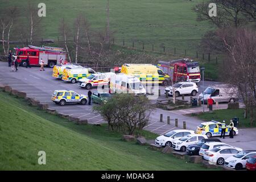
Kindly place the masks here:
[(43, 59), (44, 64), (51, 68), (53, 68), (55, 64), (59, 64), (60, 59), (64, 62), (67, 57), (67, 53), (64, 49), (59, 47), (28, 46), (14, 49), (16, 51), (18, 63), (23, 67), (26, 67), (27, 65), (27, 56), (29, 57), (30, 65), (39, 65), (39, 61)]

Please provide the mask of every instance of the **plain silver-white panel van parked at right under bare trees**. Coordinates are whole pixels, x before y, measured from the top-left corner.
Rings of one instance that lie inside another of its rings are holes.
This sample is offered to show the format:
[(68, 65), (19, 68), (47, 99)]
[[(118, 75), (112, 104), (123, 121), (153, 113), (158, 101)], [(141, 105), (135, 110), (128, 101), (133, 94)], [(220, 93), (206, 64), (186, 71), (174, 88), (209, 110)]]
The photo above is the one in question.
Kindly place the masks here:
[(208, 86), (203, 93), (199, 95), (201, 102), (207, 103), (209, 97), (216, 102), (236, 102), (238, 101), (238, 89), (228, 84)]

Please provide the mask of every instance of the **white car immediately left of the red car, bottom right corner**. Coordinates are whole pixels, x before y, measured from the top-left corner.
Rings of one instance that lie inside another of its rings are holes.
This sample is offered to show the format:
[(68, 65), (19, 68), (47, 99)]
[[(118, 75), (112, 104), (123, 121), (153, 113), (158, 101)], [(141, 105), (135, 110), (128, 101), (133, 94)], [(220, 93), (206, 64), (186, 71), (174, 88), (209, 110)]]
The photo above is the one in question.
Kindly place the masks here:
[(245, 168), (247, 159), (256, 155), (256, 150), (246, 150), (230, 156), (225, 160), (224, 166), (241, 170)]

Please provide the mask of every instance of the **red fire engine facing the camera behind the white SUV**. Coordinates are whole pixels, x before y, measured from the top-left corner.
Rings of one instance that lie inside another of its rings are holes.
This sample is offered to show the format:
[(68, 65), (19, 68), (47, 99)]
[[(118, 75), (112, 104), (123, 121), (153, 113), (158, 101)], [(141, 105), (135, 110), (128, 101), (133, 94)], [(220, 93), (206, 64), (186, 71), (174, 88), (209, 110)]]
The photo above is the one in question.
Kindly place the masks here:
[(200, 82), (199, 63), (189, 59), (172, 61), (158, 61), (158, 67), (167, 73), (174, 82), (190, 81)]

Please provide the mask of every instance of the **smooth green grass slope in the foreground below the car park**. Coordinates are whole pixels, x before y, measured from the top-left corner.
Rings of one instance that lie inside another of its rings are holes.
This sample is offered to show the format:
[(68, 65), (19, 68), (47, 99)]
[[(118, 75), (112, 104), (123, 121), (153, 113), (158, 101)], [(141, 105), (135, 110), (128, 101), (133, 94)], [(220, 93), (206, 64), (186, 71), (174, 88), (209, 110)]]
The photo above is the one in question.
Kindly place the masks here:
[[(0, 170), (204, 170), (124, 142), (106, 125), (75, 125), (8, 93), (0, 92), (0, 108)], [(46, 165), (38, 164), (38, 151), (46, 152)]]

